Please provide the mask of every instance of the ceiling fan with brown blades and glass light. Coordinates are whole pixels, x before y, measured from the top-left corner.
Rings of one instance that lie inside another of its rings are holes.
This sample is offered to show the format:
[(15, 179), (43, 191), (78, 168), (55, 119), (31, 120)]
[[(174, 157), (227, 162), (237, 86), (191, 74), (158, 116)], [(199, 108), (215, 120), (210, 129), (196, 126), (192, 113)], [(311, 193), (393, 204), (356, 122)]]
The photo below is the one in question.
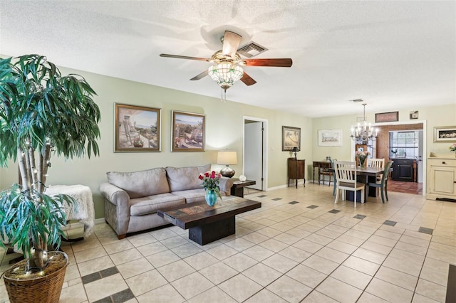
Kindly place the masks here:
[(224, 36), (220, 39), (223, 43), (221, 50), (217, 50), (211, 58), (187, 57), (185, 55), (169, 55), (161, 53), (160, 57), (179, 58), (188, 60), (199, 60), (214, 63), (207, 70), (196, 75), (190, 80), (199, 80), (209, 75), (212, 80), (216, 81), (226, 93), (237, 80), (241, 80), (245, 85), (254, 85), (257, 83), (252, 77), (247, 75), (242, 66), (269, 66), (289, 68), (293, 64), (290, 58), (279, 59), (242, 59), (237, 52), (242, 36), (232, 31), (225, 31)]

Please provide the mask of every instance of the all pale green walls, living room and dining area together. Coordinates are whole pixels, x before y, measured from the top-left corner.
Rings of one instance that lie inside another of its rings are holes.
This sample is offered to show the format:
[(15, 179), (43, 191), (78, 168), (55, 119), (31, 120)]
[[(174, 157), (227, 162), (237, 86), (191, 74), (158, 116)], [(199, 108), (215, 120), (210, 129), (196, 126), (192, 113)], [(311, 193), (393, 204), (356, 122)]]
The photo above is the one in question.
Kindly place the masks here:
[[(217, 150), (234, 149), (237, 151), (238, 164), (232, 166), (242, 174), (242, 134), (243, 118), (256, 117), (267, 120), (267, 167), (266, 188), (285, 186), (286, 159), (291, 156), (288, 151), (281, 151), (281, 127), (283, 125), (301, 128), (301, 151), (299, 159), (306, 159), (307, 180), (311, 179), (311, 164), (314, 160), (350, 159), (352, 124), (356, 124), (358, 115), (323, 117), (311, 119), (287, 112), (266, 110), (261, 107), (243, 105), (237, 102), (221, 102), (218, 97), (206, 97), (178, 90), (170, 90), (154, 85), (145, 85), (118, 78), (110, 78), (80, 70), (61, 68), (63, 74), (78, 73), (83, 75), (97, 92), (95, 97), (101, 111), (100, 156), (92, 159), (51, 159), (48, 184), (84, 184), (93, 191), (95, 217), (103, 218), (103, 198), (98, 186), (106, 181), (107, 171), (138, 171), (160, 166), (192, 166), (211, 163), (213, 169), (220, 169), (215, 164)], [(233, 90), (235, 87), (232, 88)], [(214, 90), (217, 85), (214, 83)], [(228, 94), (229, 95), (229, 94)], [(139, 105), (161, 108), (161, 152), (114, 153), (114, 104)], [(432, 100), (429, 102), (432, 104)], [(179, 110), (206, 115), (206, 151), (205, 152), (171, 152), (171, 111)], [(419, 111), (418, 120), (410, 120), (409, 112)], [(374, 121), (374, 113), (366, 113), (366, 119)], [(456, 124), (456, 102), (450, 105), (422, 108), (399, 109), (400, 122), (423, 122), (426, 129), (426, 156), (430, 151), (445, 154), (449, 144), (434, 143), (433, 127)], [(342, 129), (341, 147), (318, 147), (318, 129)], [(18, 181), (17, 165), (0, 169), (0, 188), (11, 186)]]

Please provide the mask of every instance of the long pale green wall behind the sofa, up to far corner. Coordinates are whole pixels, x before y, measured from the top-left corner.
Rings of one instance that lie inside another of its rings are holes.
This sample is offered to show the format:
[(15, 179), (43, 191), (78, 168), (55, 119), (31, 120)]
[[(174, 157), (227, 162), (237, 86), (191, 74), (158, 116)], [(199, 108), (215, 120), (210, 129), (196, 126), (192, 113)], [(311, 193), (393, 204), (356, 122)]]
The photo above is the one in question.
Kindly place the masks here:
[[(118, 78), (105, 77), (80, 70), (60, 68), (63, 74), (83, 75), (93, 87), (100, 107), (99, 124), (101, 138), (98, 141), (100, 156), (91, 159), (62, 159), (53, 156), (48, 184), (84, 184), (93, 191), (95, 217), (103, 218), (103, 198), (98, 186), (106, 181), (107, 171), (138, 171), (160, 166), (193, 166), (214, 164), (217, 166), (219, 149), (234, 149), (238, 164), (233, 166), (242, 172), (243, 117), (260, 117), (269, 122), (268, 132), (268, 188), (286, 184), (286, 158), (289, 152), (281, 151), (281, 127), (289, 125), (301, 128), (300, 157), (311, 157), (311, 119), (285, 112), (266, 110), (237, 102), (221, 102), (218, 97), (190, 94), (165, 87), (145, 85)], [(235, 86), (231, 88), (235, 89)], [(214, 83), (214, 90), (219, 90)], [(115, 153), (114, 152), (114, 104), (122, 103), (161, 108), (161, 152)], [(205, 152), (171, 152), (171, 111), (195, 112), (206, 115)], [(304, 147), (304, 148), (303, 148)], [(239, 176), (237, 174), (237, 176)], [(17, 165), (0, 169), (0, 187), (6, 188), (18, 181)]]

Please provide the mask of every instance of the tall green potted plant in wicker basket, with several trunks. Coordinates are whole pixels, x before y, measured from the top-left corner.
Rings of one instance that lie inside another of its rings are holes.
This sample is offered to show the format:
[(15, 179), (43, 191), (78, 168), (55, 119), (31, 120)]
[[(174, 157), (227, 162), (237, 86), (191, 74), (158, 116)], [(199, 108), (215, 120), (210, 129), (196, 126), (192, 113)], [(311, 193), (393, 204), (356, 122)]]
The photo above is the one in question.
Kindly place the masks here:
[[(60, 297), (68, 257), (47, 250), (58, 250), (64, 207), (74, 201), (46, 195), (46, 176), (52, 154), (98, 156), (100, 110), (93, 95), (84, 78), (61, 75), (42, 55), (0, 58), (0, 166), (16, 161), (20, 173), (19, 184), (0, 191), (0, 245), (14, 245), (26, 258), (4, 273), (11, 302), (58, 302)], [(44, 289), (56, 285), (56, 294)]]

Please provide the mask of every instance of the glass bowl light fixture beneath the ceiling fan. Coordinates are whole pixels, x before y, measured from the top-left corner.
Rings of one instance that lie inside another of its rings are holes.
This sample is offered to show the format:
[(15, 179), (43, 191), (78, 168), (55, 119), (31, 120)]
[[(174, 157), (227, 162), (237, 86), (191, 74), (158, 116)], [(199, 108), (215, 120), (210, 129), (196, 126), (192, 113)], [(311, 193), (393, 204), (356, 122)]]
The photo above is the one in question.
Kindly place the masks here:
[[(222, 87), (222, 100), (226, 98), (227, 89), (232, 87), (244, 75), (244, 70), (239, 65), (231, 62), (221, 62), (212, 65), (207, 72), (212, 80)], [(223, 97), (223, 92), (225, 93), (225, 98)]]

